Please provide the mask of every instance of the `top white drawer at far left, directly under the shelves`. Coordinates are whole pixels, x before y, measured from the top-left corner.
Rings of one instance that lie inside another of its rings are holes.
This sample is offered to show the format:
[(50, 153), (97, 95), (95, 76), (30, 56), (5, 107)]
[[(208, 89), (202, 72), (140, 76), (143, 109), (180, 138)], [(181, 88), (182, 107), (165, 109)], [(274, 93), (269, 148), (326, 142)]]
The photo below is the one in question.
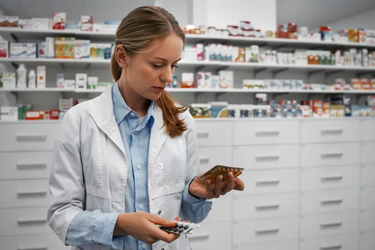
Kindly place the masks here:
[(0, 151), (52, 150), (60, 123), (0, 124)]

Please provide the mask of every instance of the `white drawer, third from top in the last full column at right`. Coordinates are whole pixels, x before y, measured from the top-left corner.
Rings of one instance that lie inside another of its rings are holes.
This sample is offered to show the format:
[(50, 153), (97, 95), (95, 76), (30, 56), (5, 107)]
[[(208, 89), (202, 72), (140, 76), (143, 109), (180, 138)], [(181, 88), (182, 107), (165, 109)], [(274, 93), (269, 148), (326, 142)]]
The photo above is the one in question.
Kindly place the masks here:
[(359, 187), (359, 167), (309, 167), (301, 169), (301, 190)]

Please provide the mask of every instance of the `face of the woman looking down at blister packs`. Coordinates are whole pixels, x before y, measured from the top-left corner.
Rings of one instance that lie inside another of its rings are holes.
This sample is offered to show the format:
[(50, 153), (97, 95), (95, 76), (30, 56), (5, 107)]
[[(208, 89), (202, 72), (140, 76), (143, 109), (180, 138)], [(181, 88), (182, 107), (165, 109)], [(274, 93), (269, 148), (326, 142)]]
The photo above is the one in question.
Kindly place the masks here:
[(125, 84), (140, 96), (157, 100), (171, 83), (177, 62), (181, 60), (182, 39), (171, 34), (164, 40), (154, 41), (145, 52), (125, 56), (123, 76)]

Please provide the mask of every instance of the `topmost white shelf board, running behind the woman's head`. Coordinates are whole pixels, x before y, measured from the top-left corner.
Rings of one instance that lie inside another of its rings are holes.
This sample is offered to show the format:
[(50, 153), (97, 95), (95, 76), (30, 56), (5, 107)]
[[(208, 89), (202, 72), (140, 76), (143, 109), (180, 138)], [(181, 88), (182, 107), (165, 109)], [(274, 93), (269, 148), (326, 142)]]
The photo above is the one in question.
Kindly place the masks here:
[[(47, 36), (74, 36), (77, 38), (88, 38), (93, 40), (114, 41), (115, 32), (96, 32), (81, 30), (33, 30), (21, 28), (0, 27), (0, 34), (6, 40), (13, 41), (17, 38), (20, 42), (30, 39), (44, 39)], [(10, 38), (10, 39), (9, 39)], [(186, 35), (187, 42), (233, 42), (244, 45), (259, 44), (270, 46), (290, 46), (290, 47), (306, 47), (306, 48), (337, 48), (337, 47), (359, 47), (373, 48), (375, 44), (364, 44), (357, 42), (323, 42), (323, 41), (304, 41), (296, 39), (280, 39), (280, 38), (248, 38), (248, 37), (223, 37), (209, 35)]]

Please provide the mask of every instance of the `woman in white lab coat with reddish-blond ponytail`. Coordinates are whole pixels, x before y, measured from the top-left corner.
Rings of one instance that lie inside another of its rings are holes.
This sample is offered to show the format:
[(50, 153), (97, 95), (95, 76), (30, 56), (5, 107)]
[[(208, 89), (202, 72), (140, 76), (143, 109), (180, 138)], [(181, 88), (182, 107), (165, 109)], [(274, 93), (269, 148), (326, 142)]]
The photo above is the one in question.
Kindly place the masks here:
[[(185, 36), (165, 9), (134, 9), (116, 33), (116, 84), (66, 112), (56, 137), (49, 226), (73, 249), (187, 250), (165, 232), (181, 218), (204, 220), (211, 202), (232, 189), (199, 176), (195, 123), (164, 90)], [(170, 220), (175, 218), (174, 220)]]

